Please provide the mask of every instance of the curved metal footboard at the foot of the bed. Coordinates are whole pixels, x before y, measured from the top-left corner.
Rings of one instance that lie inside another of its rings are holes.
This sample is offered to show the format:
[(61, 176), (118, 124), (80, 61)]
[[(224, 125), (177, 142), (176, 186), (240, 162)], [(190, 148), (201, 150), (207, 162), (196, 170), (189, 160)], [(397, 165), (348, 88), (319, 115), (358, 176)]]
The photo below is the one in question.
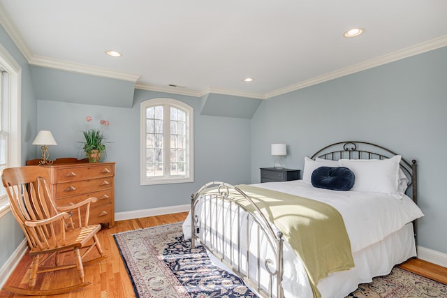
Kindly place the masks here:
[(261, 297), (283, 297), (283, 234), (249, 196), (224, 182), (205, 184), (191, 195), (191, 221), (193, 247), (203, 245)]

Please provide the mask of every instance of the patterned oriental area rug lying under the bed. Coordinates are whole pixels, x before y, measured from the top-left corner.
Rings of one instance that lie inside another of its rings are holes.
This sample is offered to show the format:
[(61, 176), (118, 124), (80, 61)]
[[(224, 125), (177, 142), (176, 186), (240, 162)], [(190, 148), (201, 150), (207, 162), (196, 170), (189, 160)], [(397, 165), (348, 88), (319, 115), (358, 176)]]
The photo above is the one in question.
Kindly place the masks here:
[[(183, 239), (182, 223), (114, 234), (135, 296), (257, 297), (233, 274), (213, 265), (202, 246)], [(359, 285), (348, 298), (447, 298), (447, 285), (400, 268)], [(295, 297), (293, 297), (295, 298)]]

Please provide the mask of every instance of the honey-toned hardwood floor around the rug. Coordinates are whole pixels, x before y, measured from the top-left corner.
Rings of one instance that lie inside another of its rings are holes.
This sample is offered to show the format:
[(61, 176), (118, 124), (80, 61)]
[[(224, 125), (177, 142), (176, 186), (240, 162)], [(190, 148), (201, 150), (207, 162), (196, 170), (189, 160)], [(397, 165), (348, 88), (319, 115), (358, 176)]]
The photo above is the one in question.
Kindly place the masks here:
[[(135, 297), (133, 286), (126, 272), (126, 267), (119, 255), (118, 248), (112, 234), (124, 232), (127, 230), (137, 230), (142, 228), (154, 227), (166, 223), (177, 223), (184, 221), (187, 213), (167, 214), (162, 216), (151, 216), (146, 218), (137, 218), (129, 221), (117, 221), (113, 228), (103, 228), (98, 233), (101, 245), (108, 259), (103, 260), (91, 266), (85, 267), (85, 281), (91, 285), (77, 290), (75, 292), (66, 293), (64, 295), (54, 295), (52, 297), (68, 297), (68, 298), (112, 298), (112, 297)], [(31, 258), (24, 255), (20, 264), (15, 268), (13, 274), (6, 282), (6, 285), (20, 286), (27, 288), (27, 277)], [(427, 276), (435, 281), (447, 284), (447, 268), (425, 262), (423, 260), (412, 259), (400, 265), (402, 269), (413, 271), (416, 274)], [(57, 273), (40, 274), (36, 287), (54, 288), (51, 285), (57, 284), (57, 287), (66, 287), (78, 283), (78, 274), (75, 270), (59, 271)], [(13, 295), (10, 292), (1, 290), (0, 297), (24, 297), (22, 295)], [(39, 297), (39, 296), (38, 296)], [(43, 296), (40, 296), (43, 297)]]

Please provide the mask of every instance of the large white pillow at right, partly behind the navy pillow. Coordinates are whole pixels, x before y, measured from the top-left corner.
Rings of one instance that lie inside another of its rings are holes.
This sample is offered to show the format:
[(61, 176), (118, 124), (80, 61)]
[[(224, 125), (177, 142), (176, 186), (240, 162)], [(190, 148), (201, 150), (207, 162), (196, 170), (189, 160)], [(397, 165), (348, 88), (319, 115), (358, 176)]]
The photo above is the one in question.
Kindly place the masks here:
[(397, 190), (399, 186), (399, 163), (402, 156), (378, 159), (340, 159), (339, 165), (348, 167), (356, 175), (351, 191), (386, 193), (402, 198)]

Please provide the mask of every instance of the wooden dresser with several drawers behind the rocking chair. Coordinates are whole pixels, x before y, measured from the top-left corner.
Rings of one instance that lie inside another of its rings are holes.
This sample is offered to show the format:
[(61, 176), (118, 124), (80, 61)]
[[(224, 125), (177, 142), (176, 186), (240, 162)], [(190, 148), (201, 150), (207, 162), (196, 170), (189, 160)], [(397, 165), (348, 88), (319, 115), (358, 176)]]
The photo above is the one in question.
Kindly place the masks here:
[[(98, 198), (90, 206), (89, 224), (115, 225), (115, 163), (62, 163), (50, 169), (50, 188), (58, 206)], [(75, 218), (73, 218), (75, 219)]]

